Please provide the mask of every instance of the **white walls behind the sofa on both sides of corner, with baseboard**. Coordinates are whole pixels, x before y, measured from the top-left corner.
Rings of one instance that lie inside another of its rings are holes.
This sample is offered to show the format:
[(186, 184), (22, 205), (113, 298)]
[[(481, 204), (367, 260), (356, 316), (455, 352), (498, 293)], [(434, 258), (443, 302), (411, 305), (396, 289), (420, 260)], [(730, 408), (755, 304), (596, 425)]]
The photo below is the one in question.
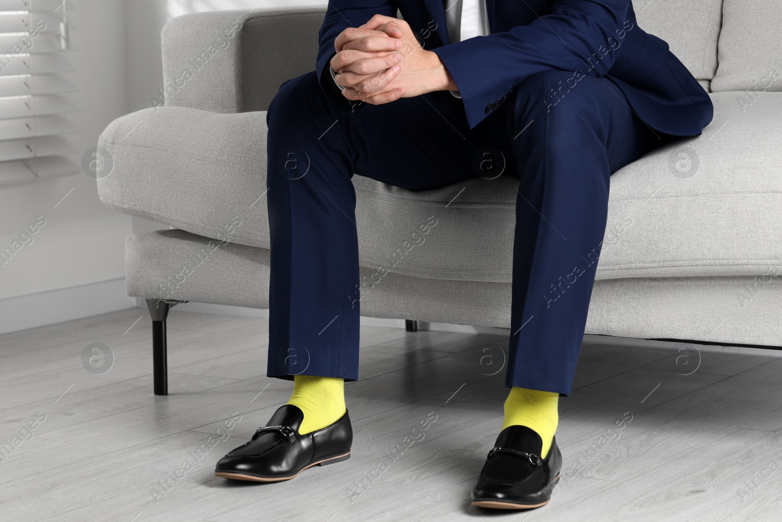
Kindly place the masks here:
[[(160, 30), (168, 20), (211, 10), (304, 5), (326, 2), (80, 0), (77, 10), (69, 12), (76, 49), (70, 58), (77, 67), (70, 77), (78, 88), (74, 100), (81, 106), (76, 116), (80, 131), (74, 134), (77, 159), (97, 144), (111, 121), (152, 106), (150, 99), (163, 86)], [(0, 267), (0, 333), (56, 322), (53, 315), (74, 319), (132, 305), (127, 296), (117, 296), (124, 278), (125, 238), (160, 225), (103, 205), (95, 180), (87, 175), (38, 180), (0, 189), (0, 248), (13, 243), (37, 216), (46, 225), (33, 243)], [(85, 297), (91, 293), (94, 299)], [(89, 301), (95, 301), (95, 311)]]

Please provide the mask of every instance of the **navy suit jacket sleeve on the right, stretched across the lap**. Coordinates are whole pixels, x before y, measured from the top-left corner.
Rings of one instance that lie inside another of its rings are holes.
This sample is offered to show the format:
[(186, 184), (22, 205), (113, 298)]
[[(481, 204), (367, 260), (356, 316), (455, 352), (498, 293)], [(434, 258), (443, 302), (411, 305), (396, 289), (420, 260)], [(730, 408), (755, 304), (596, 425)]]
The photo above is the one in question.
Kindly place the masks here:
[[(461, 92), (470, 128), (504, 95), (543, 70), (581, 71), (595, 77), (611, 70), (627, 22), (630, 0), (554, 0), (551, 14), (511, 31), (432, 49)], [(639, 30), (640, 31), (640, 30)]]

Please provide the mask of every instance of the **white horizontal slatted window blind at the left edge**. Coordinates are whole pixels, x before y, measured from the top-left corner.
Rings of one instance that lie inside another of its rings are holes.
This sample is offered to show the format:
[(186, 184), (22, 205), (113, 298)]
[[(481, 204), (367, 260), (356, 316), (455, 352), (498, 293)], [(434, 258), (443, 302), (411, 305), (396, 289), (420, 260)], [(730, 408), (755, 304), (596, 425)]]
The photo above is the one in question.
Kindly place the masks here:
[(80, 171), (72, 0), (0, 0), (0, 186)]

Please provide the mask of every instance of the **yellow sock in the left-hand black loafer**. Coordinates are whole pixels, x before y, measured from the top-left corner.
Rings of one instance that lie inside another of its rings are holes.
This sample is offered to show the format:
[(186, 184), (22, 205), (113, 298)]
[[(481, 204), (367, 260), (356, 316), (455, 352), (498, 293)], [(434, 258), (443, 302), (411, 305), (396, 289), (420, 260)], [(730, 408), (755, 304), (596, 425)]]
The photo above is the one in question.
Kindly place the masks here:
[(288, 404), (304, 412), (299, 434), (308, 434), (335, 423), (345, 415), (345, 380), (339, 377), (293, 376)]

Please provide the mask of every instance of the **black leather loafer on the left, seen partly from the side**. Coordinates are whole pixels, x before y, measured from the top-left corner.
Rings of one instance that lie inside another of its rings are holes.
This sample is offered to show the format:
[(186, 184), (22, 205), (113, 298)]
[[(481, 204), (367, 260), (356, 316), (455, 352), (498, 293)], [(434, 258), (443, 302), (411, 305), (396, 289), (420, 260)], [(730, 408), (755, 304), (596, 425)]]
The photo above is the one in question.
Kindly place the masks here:
[(281, 406), (250, 441), (217, 461), (214, 474), (238, 481), (289, 481), (310, 466), (350, 459), (353, 428), (347, 412), (321, 430), (300, 435), (303, 419), (298, 406)]

